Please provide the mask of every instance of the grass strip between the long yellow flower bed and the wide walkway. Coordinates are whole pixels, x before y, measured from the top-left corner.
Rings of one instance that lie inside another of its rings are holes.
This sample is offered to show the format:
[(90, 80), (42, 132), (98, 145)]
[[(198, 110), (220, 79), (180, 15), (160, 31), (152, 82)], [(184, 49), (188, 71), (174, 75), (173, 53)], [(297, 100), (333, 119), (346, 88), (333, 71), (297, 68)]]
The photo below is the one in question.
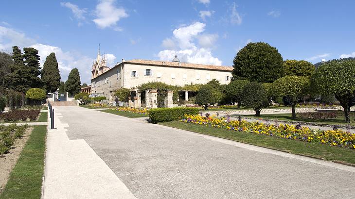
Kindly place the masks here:
[(323, 144), (302, 142), (298, 140), (283, 139), (253, 133), (236, 132), (179, 121), (165, 122), (160, 124), (196, 133), (226, 138), (255, 146), (283, 150), (294, 154), (309, 155), (331, 161), (333, 160), (355, 164), (354, 149), (331, 147)]

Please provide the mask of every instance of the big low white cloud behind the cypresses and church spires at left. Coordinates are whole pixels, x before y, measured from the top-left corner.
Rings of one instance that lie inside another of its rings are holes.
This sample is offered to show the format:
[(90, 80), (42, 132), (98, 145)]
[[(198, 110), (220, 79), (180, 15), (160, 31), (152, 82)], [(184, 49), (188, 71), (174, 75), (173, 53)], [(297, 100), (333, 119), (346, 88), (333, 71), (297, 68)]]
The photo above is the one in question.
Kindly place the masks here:
[[(77, 51), (64, 51), (60, 47), (41, 44), (36, 42), (35, 39), (26, 36), (25, 33), (0, 26), (0, 50), (12, 52), (12, 46), (18, 46), (21, 49), (24, 47), (37, 49), (41, 67), (46, 61), (46, 57), (51, 52), (54, 52), (58, 62), (61, 81), (66, 81), (71, 69), (76, 67), (80, 72), (81, 82), (90, 83), (93, 59), (88, 56), (82, 55)], [(113, 54), (106, 54), (105, 57), (108, 66), (114, 65), (116, 57)]]

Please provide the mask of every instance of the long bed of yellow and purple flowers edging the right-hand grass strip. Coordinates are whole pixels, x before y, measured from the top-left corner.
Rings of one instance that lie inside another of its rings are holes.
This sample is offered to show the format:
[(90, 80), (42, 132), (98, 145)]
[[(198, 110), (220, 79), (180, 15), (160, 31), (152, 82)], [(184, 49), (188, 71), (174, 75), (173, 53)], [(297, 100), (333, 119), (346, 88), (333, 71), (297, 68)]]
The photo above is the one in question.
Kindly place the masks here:
[(355, 149), (355, 134), (341, 130), (311, 130), (300, 125), (268, 125), (244, 120), (230, 120), (229, 118), (204, 117), (199, 115), (185, 115), (181, 122), (204, 125), (232, 131), (265, 134), (273, 137), (294, 139), (311, 143), (327, 144), (331, 146)]

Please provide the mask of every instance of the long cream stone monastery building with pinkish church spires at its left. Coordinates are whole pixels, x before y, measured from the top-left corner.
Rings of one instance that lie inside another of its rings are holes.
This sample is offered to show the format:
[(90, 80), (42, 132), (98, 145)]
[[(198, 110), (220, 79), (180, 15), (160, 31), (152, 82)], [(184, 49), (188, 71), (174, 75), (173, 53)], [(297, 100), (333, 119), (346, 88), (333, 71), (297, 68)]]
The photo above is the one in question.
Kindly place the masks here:
[(133, 59), (117, 63), (112, 68), (101, 60), (100, 50), (91, 70), (91, 95), (114, 100), (114, 90), (136, 88), (143, 83), (162, 82), (170, 85), (208, 83), (217, 79), (221, 84), (231, 81), (231, 66), (213, 66), (180, 62), (175, 55), (171, 62)]

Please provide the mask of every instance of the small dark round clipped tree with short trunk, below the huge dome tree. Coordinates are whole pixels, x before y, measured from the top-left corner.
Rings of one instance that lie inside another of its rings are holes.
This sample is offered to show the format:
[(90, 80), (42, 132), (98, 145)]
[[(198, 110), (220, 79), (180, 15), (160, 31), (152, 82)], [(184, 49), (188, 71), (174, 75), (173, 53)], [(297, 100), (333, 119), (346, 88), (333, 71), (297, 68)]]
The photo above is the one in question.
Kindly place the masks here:
[(243, 95), (242, 103), (254, 109), (255, 116), (260, 116), (261, 110), (269, 104), (266, 89), (261, 83), (247, 83), (243, 87)]

